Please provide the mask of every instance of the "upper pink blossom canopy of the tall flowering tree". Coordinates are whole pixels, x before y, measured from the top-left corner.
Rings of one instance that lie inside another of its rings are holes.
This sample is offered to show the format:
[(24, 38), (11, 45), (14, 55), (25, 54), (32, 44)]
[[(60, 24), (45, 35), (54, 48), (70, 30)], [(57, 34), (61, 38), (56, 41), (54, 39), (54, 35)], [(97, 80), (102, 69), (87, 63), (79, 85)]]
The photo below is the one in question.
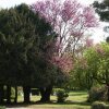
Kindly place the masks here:
[(45, 0), (31, 7), (52, 25), (59, 35), (60, 45), (66, 45), (65, 37), (81, 37), (88, 27), (97, 25), (93, 8), (83, 7), (77, 0)]

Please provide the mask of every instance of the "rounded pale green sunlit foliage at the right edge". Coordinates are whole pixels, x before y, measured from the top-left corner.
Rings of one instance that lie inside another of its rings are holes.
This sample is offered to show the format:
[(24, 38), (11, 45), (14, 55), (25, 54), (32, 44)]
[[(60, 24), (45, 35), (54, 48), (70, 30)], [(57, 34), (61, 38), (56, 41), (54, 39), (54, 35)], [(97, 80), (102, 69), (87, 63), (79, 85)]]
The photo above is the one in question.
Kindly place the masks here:
[(109, 45), (100, 44), (86, 50), (84, 58), (86, 59), (85, 71), (92, 74), (92, 77), (101, 84), (109, 82)]

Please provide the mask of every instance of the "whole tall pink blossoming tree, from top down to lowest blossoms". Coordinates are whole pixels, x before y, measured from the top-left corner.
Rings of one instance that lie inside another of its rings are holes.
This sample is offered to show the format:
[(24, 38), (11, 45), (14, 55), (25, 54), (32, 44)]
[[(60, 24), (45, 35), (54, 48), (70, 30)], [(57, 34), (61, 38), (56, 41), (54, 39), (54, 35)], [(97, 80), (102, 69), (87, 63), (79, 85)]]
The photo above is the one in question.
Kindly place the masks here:
[(31, 8), (34, 12), (38, 12), (40, 17), (45, 17), (58, 35), (53, 48), (50, 46), (53, 55), (49, 51), (47, 56), (50, 55), (49, 61), (68, 75), (73, 66), (69, 49), (72, 49), (74, 55), (77, 45), (84, 38), (85, 31), (97, 25), (93, 8), (83, 7), (76, 0), (37, 1)]

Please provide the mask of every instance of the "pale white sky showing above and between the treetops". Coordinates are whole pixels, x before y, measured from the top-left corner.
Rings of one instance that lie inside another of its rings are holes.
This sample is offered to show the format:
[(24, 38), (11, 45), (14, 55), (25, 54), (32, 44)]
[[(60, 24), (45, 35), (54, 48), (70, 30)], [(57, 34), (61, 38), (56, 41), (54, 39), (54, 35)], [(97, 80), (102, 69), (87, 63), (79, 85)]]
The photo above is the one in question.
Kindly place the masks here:
[[(11, 8), (11, 7), (14, 7), (14, 5), (21, 4), (21, 3), (32, 4), (36, 1), (37, 0), (0, 0), (0, 8)], [(78, 0), (78, 1), (84, 5), (89, 5), (95, 0)], [(98, 0), (98, 1), (101, 1), (101, 0)], [(109, 24), (100, 22), (99, 27), (93, 29), (92, 38), (94, 39), (94, 43), (99, 43), (99, 41), (104, 40), (105, 37), (108, 35), (102, 31), (104, 26), (106, 26), (106, 25), (108, 26)]]

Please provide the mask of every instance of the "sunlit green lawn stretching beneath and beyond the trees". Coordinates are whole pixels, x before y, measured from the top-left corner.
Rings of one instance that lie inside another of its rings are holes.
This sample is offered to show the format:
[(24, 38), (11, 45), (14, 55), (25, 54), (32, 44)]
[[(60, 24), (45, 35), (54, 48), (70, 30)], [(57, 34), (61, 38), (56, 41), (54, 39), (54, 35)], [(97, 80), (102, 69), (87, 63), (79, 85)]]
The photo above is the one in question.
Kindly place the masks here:
[[(70, 96), (64, 104), (58, 104), (56, 96), (51, 96), (50, 104), (36, 104), (36, 101), (40, 99), (40, 96), (32, 96), (31, 100), (34, 101), (33, 104), (19, 104), (17, 106), (15, 105), (11, 107), (13, 109), (15, 109), (15, 107), (21, 107), (22, 109), (90, 109), (90, 104), (86, 102), (86, 92), (71, 92), (69, 95)], [(23, 97), (19, 97), (19, 102), (21, 101), (23, 101)]]

